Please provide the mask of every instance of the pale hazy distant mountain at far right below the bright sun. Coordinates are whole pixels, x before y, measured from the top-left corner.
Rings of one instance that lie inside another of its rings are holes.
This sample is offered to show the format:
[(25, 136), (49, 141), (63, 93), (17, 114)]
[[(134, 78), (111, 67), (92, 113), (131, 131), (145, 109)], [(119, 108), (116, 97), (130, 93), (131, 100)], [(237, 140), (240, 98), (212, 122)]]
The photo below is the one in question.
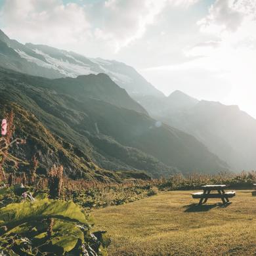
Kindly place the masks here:
[(234, 171), (256, 168), (256, 120), (238, 106), (173, 93), (158, 118), (200, 140)]

